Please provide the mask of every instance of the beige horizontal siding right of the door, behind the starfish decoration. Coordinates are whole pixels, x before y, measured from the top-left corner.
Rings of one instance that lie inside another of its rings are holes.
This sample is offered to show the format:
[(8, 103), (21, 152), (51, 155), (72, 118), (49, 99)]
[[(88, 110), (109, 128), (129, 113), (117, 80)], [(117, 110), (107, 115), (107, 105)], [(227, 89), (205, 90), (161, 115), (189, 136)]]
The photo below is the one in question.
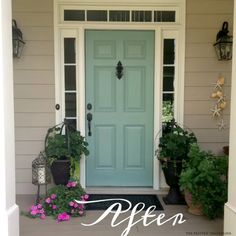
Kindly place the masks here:
[[(229, 130), (219, 131), (211, 117), (212, 84), (220, 74), (226, 78), (228, 107), (224, 119), (229, 125), (231, 62), (219, 62), (212, 46), (224, 21), (233, 22), (233, 0), (187, 0), (185, 125), (191, 128), (204, 149), (220, 153), (228, 144)], [(232, 32), (232, 31), (231, 31)]]

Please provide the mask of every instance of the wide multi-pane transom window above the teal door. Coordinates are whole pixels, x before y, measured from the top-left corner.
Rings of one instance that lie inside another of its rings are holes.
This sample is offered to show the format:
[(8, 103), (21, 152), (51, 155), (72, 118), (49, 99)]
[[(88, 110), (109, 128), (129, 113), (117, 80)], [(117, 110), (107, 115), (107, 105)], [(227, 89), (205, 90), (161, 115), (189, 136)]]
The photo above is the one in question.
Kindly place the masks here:
[(161, 23), (177, 22), (177, 9), (168, 10), (87, 10), (87, 9), (63, 9), (63, 21), (73, 22), (144, 22)]

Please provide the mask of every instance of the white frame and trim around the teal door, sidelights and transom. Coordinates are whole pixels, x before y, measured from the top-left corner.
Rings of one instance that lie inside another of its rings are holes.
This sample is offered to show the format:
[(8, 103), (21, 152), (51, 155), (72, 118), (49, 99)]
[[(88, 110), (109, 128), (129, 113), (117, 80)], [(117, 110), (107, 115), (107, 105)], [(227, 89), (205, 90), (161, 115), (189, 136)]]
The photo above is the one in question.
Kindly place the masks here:
[[(94, 0), (95, 1), (95, 0)], [(62, 39), (66, 35), (71, 35), (77, 40), (76, 61), (77, 64), (77, 117), (78, 126), (81, 134), (85, 136), (85, 30), (152, 30), (155, 31), (155, 59), (154, 59), (154, 147), (153, 147), (153, 188), (160, 189), (165, 186), (165, 182), (160, 171), (159, 161), (155, 157), (155, 149), (157, 147), (158, 133), (161, 129), (161, 107), (162, 107), (162, 55), (163, 55), (163, 39), (175, 38), (175, 119), (183, 123), (183, 104), (184, 104), (184, 61), (185, 61), (185, 0), (179, 0), (178, 7), (181, 7), (176, 24), (147, 24), (147, 23), (101, 23), (101, 22), (63, 22), (60, 0), (54, 1), (54, 41), (55, 41), (55, 83), (56, 83), (56, 103), (61, 104), (62, 109), (56, 111), (56, 122), (59, 123), (64, 118), (63, 104), (64, 91), (61, 85), (62, 71)], [(98, 1), (96, 1), (98, 2)], [(173, 1), (172, 1), (173, 2)], [(175, 1), (176, 2), (176, 1)], [(180, 4), (181, 2), (181, 4)], [(111, 3), (109, 3), (110, 5)], [(146, 4), (146, 3), (145, 3)], [(122, 4), (121, 4), (122, 5)], [(152, 4), (153, 5), (153, 4)], [(68, 5), (69, 6), (69, 5)], [(134, 6), (136, 6), (134, 4)], [(129, 6), (130, 7), (130, 6)], [(126, 8), (129, 8), (126, 7)], [(156, 7), (156, 5), (153, 5)], [(160, 7), (160, 6), (159, 6)], [(71, 6), (69, 6), (71, 8)], [(106, 8), (106, 7), (104, 7)], [(133, 9), (133, 7), (130, 7)], [(100, 6), (99, 9), (103, 9)], [(116, 9), (116, 8), (115, 8)], [(164, 8), (165, 9), (165, 8)], [(86, 166), (85, 157), (81, 158), (81, 185), (86, 187)]]

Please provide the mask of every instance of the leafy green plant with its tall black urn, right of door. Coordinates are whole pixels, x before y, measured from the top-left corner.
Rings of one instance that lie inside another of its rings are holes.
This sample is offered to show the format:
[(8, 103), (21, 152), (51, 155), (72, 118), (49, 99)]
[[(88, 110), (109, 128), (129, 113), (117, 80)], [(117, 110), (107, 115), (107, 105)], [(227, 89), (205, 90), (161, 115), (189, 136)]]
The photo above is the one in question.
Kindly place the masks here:
[(166, 204), (183, 202), (179, 188), (179, 175), (183, 161), (188, 159), (188, 152), (192, 143), (197, 142), (195, 135), (180, 127), (175, 120), (163, 125), (162, 137), (159, 142), (157, 156), (164, 172), (169, 192), (163, 198)]

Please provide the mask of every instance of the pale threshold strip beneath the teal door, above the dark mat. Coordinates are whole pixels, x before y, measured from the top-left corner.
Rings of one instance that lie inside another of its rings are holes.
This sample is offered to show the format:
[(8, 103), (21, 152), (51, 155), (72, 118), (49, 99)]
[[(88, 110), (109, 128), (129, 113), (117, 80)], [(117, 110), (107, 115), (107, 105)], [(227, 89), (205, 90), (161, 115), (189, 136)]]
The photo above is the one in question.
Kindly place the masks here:
[(167, 194), (168, 188), (159, 190), (145, 187), (87, 187), (85, 189), (88, 194)]

